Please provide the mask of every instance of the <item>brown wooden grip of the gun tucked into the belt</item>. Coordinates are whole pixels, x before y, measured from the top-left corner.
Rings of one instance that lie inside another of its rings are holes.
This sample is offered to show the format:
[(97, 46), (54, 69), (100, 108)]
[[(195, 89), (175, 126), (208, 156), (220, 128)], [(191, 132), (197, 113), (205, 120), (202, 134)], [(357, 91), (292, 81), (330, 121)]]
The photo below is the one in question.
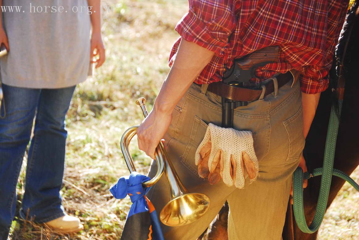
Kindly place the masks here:
[(279, 46), (270, 46), (259, 49), (247, 55), (242, 61), (237, 62), (243, 70), (248, 70), (252, 66), (261, 62), (278, 62)]

